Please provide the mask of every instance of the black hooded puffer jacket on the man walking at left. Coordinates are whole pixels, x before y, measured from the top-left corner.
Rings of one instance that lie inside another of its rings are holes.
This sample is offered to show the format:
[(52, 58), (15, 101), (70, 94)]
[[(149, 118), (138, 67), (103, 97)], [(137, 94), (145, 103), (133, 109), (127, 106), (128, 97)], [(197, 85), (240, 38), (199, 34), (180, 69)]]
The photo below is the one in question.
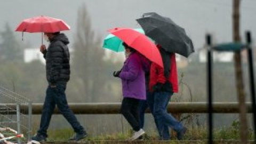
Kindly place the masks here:
[(69, 44), (65, 34), (58, 34), (50, 39), (50, 45), (43, 52), (46, 60), (46, 78), (51, 84), (67, 83), (70, 78)]

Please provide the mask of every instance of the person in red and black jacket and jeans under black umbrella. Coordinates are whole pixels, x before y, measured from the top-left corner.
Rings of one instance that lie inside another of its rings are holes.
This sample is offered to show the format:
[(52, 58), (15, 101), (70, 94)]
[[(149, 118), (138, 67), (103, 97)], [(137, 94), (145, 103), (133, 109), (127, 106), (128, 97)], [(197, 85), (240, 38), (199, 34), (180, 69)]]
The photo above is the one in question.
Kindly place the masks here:
[[(163, 59), (164, 68), (156, 63), (151, 63), (149, 90), (154, 97), (153, 115), (157, 121), (157, 130), (159, 135), (169, 135), (166, 127), (171, 127), (177, 132), (178, 140), (181, 140), (187, 131), (187, 128), (167, 113), (167, 105), (173, 93), (179, 90), (177, 67), (174, 53), (167, 53), (160, 45), (157, 45)], [(166, 138), (163, 138), (166, 140)]]

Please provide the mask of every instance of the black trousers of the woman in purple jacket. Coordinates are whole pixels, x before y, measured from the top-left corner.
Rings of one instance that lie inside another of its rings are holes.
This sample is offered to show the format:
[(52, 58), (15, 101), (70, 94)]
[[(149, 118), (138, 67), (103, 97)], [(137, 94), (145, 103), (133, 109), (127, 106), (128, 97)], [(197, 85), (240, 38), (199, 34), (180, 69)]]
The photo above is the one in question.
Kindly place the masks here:
[(127, 122), (132, 126), (133, 131), (140, 130), (139, 119), (139, 100), (134, 98), (124, 98), (120, 113), (125, 117)]

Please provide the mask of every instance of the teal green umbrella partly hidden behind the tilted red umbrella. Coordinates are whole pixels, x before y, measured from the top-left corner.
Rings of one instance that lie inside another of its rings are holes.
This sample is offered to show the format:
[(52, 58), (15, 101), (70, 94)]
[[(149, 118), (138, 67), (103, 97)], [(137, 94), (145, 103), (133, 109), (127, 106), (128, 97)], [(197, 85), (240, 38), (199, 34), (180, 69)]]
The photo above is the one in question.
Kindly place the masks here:
[[(141, 34), (145, 34), (142, 28), (134, 29)], [(107, 48), (109, 50), (113, 50), (115, 52), (122, 52), (124, 51), (124, 46), (122, 45), (122, 39), (116, 37), (113, 34), (109, 34), (106, 38), (104, 38), (102, 47)]]

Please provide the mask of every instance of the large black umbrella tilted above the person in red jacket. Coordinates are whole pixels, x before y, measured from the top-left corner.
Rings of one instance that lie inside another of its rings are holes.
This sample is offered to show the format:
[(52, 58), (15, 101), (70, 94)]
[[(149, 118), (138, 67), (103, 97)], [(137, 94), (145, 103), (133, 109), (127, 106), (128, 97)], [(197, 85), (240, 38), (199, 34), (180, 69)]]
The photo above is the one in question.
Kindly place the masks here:
[(163, 46), (167, 52), (174, 52), (188, 57), (195, 52), (191, 39), (185, 29), (170, 18), (162, 17), (155, 12), (144, 13), (137, 19), (145, 34)]

